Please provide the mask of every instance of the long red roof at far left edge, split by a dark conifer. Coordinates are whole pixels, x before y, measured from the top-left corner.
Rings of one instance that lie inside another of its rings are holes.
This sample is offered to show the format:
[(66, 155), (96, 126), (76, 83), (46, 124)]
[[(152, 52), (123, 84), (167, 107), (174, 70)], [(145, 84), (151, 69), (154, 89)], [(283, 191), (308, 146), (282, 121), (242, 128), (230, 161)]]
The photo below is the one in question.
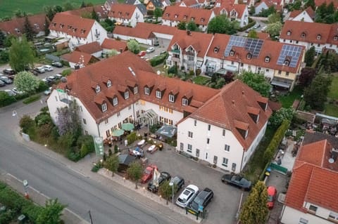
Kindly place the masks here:
[[(28, 21), (32, 26), (33, 30), (38, 32), (44, 32), (44, 22), (46, 20), (46, 14), (39, 14), (39, 15), (29, 15)], [(48, 18), (47, 18), (48, 20)], [(0, 22), (0, 30), (5, 32), (6, 34), (12, 34), (16, 37), (20, 37), (23, 32), (25, 25), (25, 17), (23, 18), (13, 18), (12, 20)]]

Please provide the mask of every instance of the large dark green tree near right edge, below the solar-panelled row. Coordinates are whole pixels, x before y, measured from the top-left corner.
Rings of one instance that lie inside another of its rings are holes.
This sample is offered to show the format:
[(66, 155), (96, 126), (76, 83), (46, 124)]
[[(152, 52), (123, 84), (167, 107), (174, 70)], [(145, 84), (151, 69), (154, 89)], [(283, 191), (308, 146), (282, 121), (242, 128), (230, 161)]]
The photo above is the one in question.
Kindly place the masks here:
[(312, 109), (323, 110), (332, 83), (331, 77), (318, 74), (312, 80), (311, 85), (304, 89), (304, 100), (306, 105)]

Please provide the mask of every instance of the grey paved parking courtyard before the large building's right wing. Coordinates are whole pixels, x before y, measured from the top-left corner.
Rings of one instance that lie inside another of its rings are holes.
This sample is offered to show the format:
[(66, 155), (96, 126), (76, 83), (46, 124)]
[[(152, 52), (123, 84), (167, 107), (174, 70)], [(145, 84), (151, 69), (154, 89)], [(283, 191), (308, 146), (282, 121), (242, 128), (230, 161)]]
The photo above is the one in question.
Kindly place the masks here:
[[(146, 145), (144, 149), (147, 147), (149, 145)], [(162, 151), (157, 150), (154, 154), (145, 153), (145, 156), (149, 159), (148, 164), (156, 164), (159, 171), (167, 171), (171, 176), (182, 176), (185, 180), (185, 186), (194, 184), (200, 190), (203, 190), (204, 187), (213, 190), (213, 201), (207, 206), (207, 218), (204, 223), (236, 223), (235, 217), (243, 191), (222, 183), (220, 178), (223, 173), (183, 157), (175, 152), (174, 147), (168, 147), (168, 145), (165, 145)], [(180, 192), (177, 193), (176, 197), (180, 195)], [(247, 192), (243, 193), (244, 196), (247, 195)]]

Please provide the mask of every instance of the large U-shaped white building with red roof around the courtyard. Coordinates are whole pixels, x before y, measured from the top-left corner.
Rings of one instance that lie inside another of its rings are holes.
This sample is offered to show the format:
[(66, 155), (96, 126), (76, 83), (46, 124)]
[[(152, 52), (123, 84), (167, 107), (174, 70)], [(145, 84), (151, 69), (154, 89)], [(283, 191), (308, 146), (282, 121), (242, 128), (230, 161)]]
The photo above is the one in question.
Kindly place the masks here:
[(177, 124), (177, 150), (237, 173), (263, 137), (271, 114), (268, 99), (242, 81), (218, 90), (157, 75), (128, 51), (76, 70), (58, 84), (47, 99), (54, 121), (58, 108), (70, 100), (80, 108), (85, 134), (111, 138), (126, 121)]

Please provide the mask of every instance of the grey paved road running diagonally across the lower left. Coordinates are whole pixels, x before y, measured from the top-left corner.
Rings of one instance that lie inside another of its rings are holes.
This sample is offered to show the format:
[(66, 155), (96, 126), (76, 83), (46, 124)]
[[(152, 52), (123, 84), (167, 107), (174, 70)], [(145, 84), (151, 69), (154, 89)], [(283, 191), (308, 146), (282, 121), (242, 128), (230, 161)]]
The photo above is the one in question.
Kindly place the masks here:
[(18, 120), (11, 115), (12, 110), (16, 110), (20, 117), (23, 114), (36, 114), (41, 106), (37, 102), (23, 107), (17, 103), (5, 110), (0, 108), (1, 170), (21, 180), (27, 179), (32, 187), (51, 198), (57, 197), (61, 203), (68, 204), (68, 209), (88, 221), (87, 211), (91, 210), (94, 223), (177, 223), (175, 218), (151, 209), (151, 204), (146, 205), (148, 202), (134, 202), (134, 199), (138, 200), (137, 195), (114, 190), (119, 185), (82, 174), (78, 169), (72, 169), (77, 164), (62, 157), (38, 153), (36, 149), (18, 141), (11, 132), (18, 124)]

